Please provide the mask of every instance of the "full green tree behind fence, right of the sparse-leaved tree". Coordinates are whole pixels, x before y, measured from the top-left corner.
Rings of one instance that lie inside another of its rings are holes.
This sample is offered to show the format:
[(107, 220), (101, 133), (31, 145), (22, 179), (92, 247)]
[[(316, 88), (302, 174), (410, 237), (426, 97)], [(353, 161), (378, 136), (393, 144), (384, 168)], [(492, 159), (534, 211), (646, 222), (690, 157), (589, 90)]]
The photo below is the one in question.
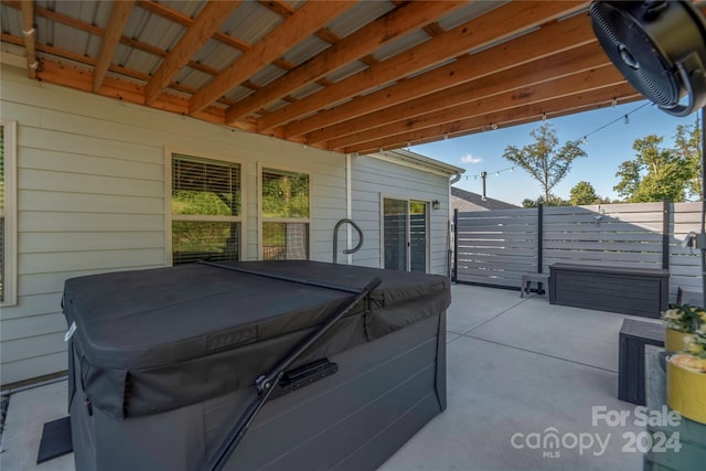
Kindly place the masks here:
[(635, 139), (632, 144), (635, 159), (620, 164), (616, 173), (620, 182), (613, 190), (631, 203), (685, 201), (694, 183), (692, 160), (696, 153), (688, 147), (687, 133), (685, 129), (677, 131), (681, 150), (661, 147), (663, 138), (655, 135)]

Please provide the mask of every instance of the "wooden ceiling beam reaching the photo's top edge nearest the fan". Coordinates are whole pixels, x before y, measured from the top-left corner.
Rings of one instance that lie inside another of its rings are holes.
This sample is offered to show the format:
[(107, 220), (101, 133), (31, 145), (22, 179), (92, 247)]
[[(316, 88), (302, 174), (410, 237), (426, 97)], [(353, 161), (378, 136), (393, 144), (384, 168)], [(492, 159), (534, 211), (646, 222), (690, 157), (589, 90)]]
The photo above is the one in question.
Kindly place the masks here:
[(267, 131), (301, 116), (327, 108), (383, 84), (398, 81), (461, 54), (586, 8), (585, 1), (520, 1), (439, 34), (408, 51), (319, 90), (307, 100), (286, 106), (258, 120), (258, 130)]

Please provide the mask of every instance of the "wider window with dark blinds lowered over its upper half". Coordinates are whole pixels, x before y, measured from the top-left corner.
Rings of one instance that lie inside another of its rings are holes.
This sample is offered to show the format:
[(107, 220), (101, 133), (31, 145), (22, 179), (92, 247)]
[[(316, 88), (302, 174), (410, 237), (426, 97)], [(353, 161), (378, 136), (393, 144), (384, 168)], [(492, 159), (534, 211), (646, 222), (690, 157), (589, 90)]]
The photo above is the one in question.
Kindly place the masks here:
[(238, 260), (240, 165), (172, 154), (172, 264)]

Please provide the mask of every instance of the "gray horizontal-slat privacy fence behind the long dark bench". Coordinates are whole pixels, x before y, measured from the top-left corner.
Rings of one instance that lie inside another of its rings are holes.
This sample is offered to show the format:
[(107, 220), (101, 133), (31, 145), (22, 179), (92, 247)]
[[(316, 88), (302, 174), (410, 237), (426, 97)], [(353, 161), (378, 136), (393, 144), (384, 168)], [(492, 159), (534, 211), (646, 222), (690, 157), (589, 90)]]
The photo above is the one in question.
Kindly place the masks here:
[(556, 263), (667, 268), (670, 297), (702, 291), (700, 203), (625, 203), (454, 213), (456, 281), (520, 288)]

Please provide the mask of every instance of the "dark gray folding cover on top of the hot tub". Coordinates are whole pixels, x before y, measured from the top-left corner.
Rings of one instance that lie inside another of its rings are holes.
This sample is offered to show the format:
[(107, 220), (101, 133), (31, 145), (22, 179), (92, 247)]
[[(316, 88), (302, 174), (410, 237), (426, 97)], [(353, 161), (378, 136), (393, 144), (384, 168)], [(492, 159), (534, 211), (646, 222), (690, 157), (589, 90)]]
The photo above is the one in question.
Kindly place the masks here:
[[(292, 367), (439, 314), (451, 299), (441, 276), (314, 261), (229, 265), (354, 289), (383, 280)], [(81, 362), (94, 407), (115, 418), (167, 411), (253, 385), (351, 296), (200, 264), (73, 278), (63, 299), (75, 323), (69, 358)]]

